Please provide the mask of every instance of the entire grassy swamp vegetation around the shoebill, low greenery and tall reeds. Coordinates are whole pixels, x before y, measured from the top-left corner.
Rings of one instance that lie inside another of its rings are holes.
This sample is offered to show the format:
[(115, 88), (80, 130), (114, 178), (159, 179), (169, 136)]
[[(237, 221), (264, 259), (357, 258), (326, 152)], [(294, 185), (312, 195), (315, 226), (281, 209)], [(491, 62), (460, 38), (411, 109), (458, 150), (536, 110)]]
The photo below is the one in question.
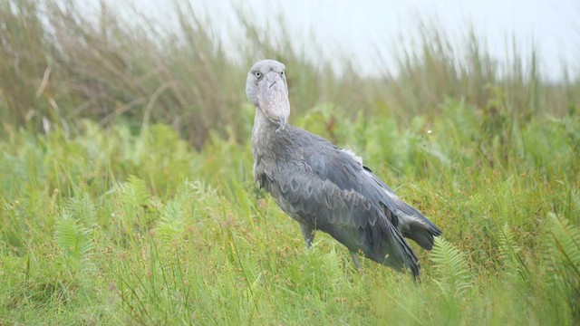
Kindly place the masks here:
[[(95, 23), (42, 4), (0, 7), (0, 324), (580, 321), (580, 86), (546, 82), (534, 49), (498, 64), (474, 34), (460, 57), (419, 29), (400, 72), (370, 78), (315, 67), (243, 14), (234, 63), (188, 5), (159, 38), (106, 5)], [(256, 189), (256, 55), (286, 63), (290, 123), (443, 230), (432, 252), (411, 244), (420, 282), (366, 259), (359, 273), (322, 233), (306, 250)]]

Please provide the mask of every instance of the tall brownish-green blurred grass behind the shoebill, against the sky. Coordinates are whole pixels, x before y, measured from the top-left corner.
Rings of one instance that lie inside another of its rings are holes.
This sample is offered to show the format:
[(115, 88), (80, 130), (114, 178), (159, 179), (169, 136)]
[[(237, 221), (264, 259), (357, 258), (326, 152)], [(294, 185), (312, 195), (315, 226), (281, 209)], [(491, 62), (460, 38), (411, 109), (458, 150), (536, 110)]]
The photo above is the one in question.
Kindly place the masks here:
[(247, 67), (265, 57), (293, 70), (290, 96), (298, 114), (328, 103), (350, 118), (390, 114), (407, 124), (416, 114), (439, 114), (441, 103), (455, 98), (489, 119), (498, 107), (529, 119), (543, 112), (562, 116), (580, 100), (576, 76), (545, 81), (534, 47), (519, 51), (514, 43), (513, 59), (497, 62), (474, 31), (457, 46), (437, 26), (420, 24), (409, 36), (418, 46), (389, 52), (397, 73), (371, 78), (348, 60), (340, 73), (308, 61), (283, 21), (279, 32), (268, 33), (242, 11), (241, 33), (233, 34), (241, 36), (231, 49), (184, 1), (173, 4), (171, 23), (156, 22), (138, 8), (122, 15), (104, 2), (89, 16), (74, 2), (4, 0), (1, 8), (3, 130), (56, 124), (73, 131), (81, 118), (102, 125), (126, 120), (136, 127), (163, 122), (201, 149), (209, 130), (239, 138), (247, 128), (233, 108), (245, 101)]

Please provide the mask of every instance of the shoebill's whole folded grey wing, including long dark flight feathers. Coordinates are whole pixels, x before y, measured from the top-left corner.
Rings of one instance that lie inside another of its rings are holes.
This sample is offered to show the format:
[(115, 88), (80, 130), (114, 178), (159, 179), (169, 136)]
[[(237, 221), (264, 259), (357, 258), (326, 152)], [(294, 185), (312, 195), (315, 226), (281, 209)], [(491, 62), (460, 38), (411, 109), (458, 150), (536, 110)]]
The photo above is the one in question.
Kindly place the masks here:
[[(272, 180), (275, 189), (270, 190), (291, 215), (361, 229), (368, 249), (388, 253), (395, 259), (390, 260), (393, 267), (404, 265), (417, 275), (417, 256), (396, 227), (395, 203), (368, 176), (360, 162), (341, 149), (308, 147), (280, 163)], [(343, 239), (349, 240), (353, 239)]]

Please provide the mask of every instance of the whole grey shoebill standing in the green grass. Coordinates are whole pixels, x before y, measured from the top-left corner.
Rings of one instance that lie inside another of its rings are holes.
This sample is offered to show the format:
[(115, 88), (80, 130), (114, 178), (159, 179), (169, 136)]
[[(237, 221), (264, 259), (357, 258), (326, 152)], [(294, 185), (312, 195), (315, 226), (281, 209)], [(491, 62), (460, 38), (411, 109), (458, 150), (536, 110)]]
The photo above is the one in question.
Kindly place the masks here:
[(257, 187), (300, 225), (307, 248), (319, 230), (346, 246), (358, 270), (358, 253), (397, 271), (420, 274), (405, 237), (430, 250), (441, 230), (395, 195), (362, 158), (288, 123), (285, 65), (256, 62), (247, 73), (247, 99), (256, 107), (252, 156)]

